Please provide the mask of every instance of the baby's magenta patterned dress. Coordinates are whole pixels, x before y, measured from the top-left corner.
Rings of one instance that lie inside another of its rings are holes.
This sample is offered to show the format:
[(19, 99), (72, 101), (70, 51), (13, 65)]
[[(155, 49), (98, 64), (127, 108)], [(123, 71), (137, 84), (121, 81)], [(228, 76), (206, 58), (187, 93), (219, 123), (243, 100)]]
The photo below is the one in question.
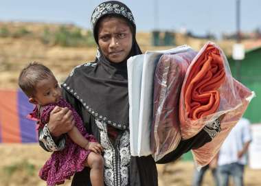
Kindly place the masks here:
[[(72, 106), (65, 100), (60, 99), (56, 104), (48, 104), (47, 106), (41, 106), (40, 109), (36, 106), (34, 111), (30, 113), (30, 119), (39, 122), (39, 128), (43, 128), (49, 121), (49, 115), (55, 106), (69, 108), (75, 120), (75, 126), (82, 133), (82, 135), (88, 139), (88, 141), (96, 141), (93, 135), (87, 134), (82, 119), (72, 108)], [(40, 111), (39, 111), (40, 110)], [(85, 150), (76, 143), (74, 143), (69, 136), (66, 137), (65, 148), (60, 151), (53, 152), (52, 156), (47, 160), (45, 165), (41, 168), (39, 176), (47, 181), (47, 185), (54, 186), (63, 184), (65, 179), (70, 179), (74, 173), (80, 172), (84, 168), (84, 162), (91, 150)]]

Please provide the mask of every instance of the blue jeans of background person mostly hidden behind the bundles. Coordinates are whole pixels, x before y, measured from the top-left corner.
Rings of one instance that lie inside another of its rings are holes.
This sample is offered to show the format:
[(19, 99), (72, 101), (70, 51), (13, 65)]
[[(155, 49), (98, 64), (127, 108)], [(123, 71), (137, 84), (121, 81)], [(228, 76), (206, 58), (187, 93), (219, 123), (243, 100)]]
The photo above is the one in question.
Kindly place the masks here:
[[(208, 169), (209, 169), (209, 165), (206, 165), (205, 167), (202, 167), (201, 170), (199, 170), (199, 171), (195, 170), (194, 171), (194, 178), (193, 178), (192, 186), (201, 186), (202, 185), (203, 176)], [(212, 171), (212, 176), (214, 178), (215, 185), (219, 186), (217, 170), (212, 169), (211, 171)]]

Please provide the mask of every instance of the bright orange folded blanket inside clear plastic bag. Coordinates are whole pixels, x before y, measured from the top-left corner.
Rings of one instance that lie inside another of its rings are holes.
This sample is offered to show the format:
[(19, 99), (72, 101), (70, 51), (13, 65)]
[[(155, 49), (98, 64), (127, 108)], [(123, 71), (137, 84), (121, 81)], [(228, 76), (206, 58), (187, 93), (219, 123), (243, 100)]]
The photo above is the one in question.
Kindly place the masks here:
[(218, 88), (225, 81), (225, 69), (218, 49), (208, 45), (190, 69), (184, 89), (188, 117), (199, 119), (218, 109)]

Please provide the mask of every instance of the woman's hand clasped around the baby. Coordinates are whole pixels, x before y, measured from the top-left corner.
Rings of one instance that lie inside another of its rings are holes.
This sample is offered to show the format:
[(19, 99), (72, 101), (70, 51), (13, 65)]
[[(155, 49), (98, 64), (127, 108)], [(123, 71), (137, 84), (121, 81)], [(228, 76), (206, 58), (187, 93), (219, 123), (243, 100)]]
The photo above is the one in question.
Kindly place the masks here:
[(65, 107), (54, 107), (53, 111), (50, 113), (48, 127), (49, 132), (54, 137), (59, 137), (66, 132), (69, 132), (74, 126), (74, 119), (72, 112), (69, 108)]

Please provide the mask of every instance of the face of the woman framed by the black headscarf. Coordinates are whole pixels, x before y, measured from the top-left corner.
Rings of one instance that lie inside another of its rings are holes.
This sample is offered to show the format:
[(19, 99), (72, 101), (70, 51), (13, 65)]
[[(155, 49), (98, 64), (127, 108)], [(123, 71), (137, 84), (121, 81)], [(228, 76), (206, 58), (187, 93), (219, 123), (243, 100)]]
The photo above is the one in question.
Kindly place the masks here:
[(111, 62), (125, 60), (133, 45), (133, 34), (128, 23), (117, 17), (104, 18), (98, 28), (98, 45)]

